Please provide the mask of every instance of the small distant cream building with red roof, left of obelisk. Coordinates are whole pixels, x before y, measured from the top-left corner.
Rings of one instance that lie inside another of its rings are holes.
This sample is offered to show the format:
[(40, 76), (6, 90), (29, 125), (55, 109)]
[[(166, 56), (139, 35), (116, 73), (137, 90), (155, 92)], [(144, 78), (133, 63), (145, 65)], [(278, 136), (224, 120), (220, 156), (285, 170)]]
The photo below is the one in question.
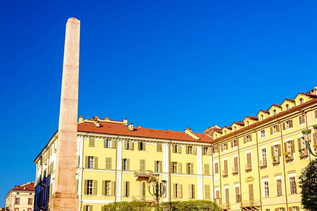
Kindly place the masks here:
[(33, 211), (35, 182), (16, 185), (5, 197), (6, 211)]

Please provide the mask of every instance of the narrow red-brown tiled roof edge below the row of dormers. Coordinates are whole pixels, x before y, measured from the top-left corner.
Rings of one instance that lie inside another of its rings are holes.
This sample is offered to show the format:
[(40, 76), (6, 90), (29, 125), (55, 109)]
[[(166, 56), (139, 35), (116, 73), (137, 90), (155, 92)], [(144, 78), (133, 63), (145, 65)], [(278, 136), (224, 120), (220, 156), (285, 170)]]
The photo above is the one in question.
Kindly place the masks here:
[[(232, 136), (232, 135), (234, 135), (234, 134), (236, 134), (236, 133), (239, 133), (239, 132), (248, 130), (249, 128), (252, 128), (252, 127), (254, 127), (254, 126), (256, 126), (256, 125), (260, 125), (260, 124), (262, 124), (263, 122), (267, 122), (267, 121), (269, 121), (269, 120), (271, 120), (271, 119), (274, 119), (274, 118), (276, 118), (276, 117), (280, 117), (280, 116), (282, 116), (282, 115), (284, 115), (284, 114), (287, 114), (287, 113), (289, 113), (289, 112), (292, 112), (292, 111), (296, 111), (297, 109), (300, 109), (300, 108), (302, 108), (302, 107), (305, 107), (306, 105), (310, 105), (310, 104), (313, 104), (313, 103), (316, 103), (316, 102), (317, 102), (317, 99), (312, 99), (312, 100), (310, 100), (310, 101), (308, 101), (308, 102), (306, 102), (306, 103), (303, 103), (303, 104), (301, 104), (301, 105), (297, 105), (297, 106), (295, 106), (295, 107), (293, 107), (293, 108), (291, 108), (291, 109), (288, 109), (288, 110), (286, 110), (286, 111), (282, 111), (281, 113), (278, 113), (278, 114), (276, 114), (276, 115), (274, 115), (274, 116), (268, 117), (268, 118), (266, 118), (266, 119), (264, 119), (264, 120), (262, 120), (262, 121), (259, 121), (259, 122), (253, 123), (252, 125), (249, 125), (249, 126), (247, 126), (247, 127), (241, 128), (240, 130), (237, 130), (237, 131), (235, 131), (234, 133), (229, 133), (229, 134), (227, 134), (227, 135), (224, 135), (224, 136), (222, 136), (222, 137), (219, 137), (219, 138), (217, 138), (217, 139), (214, 139), (213, 141), (220, 141), (220, 140), (222, 140), (222, 139), (224, 139), (224, 138), (226, 138), (226, 137), (229, 137), (229, 136)], [(262, 110), (261, 110), (261, 111), (262, 111)]]

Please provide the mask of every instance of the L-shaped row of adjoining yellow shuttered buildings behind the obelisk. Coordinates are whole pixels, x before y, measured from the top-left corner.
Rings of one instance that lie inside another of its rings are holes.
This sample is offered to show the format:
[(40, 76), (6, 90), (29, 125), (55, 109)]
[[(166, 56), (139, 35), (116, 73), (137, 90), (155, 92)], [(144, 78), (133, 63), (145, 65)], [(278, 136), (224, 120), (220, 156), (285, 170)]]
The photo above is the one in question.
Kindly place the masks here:
[[(214, 125), (203, 134), (190, 128), (134, 127), (126, 118), (80, 116), (75, 187), (79, 210), (99, 210), (112, 201), (154, 202), (146, 186), (154, 173), (167, 181), (160, 201), (206, 199), (223, 210), (300, 210), (298, 176), (314, 159), (301, 131), (317, 124), (316, 88), (260, 110), (256, 117), (223, 128)], [(58, 131), (34, 160), (35, 210), (49, 210), (57, 136)], [(317, 144), (314, 134), (312, 140)]]

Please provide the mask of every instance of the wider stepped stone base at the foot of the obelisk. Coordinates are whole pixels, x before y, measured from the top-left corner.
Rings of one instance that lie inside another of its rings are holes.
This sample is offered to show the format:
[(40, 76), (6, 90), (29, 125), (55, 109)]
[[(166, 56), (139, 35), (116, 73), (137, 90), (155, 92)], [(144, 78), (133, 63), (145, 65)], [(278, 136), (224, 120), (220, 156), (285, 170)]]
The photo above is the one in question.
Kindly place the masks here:
[(49, 211), (78, 211), (79, 199), (77, 194), (55, 193), (49, 200)]

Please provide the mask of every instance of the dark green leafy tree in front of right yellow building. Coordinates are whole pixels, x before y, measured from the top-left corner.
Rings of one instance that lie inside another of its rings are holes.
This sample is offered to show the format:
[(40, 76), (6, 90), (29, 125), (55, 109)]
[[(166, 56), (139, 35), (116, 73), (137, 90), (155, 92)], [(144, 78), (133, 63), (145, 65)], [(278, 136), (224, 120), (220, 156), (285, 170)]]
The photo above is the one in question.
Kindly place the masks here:
[(317, 209), (317, 159), (311, 161), (299, 176), (301, 204), (304, 209)]

